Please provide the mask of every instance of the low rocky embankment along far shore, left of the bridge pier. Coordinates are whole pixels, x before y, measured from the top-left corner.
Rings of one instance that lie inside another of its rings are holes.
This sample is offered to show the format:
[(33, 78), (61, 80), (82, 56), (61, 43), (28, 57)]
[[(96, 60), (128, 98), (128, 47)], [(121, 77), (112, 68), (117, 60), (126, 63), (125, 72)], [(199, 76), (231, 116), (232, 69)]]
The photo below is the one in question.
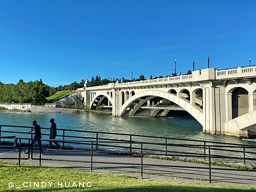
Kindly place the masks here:
[(71, 108), (52, 108), (52, 107), (39, 107), (32, 105), (31, 112), (49, 112), (49, 113), (97, 113), (97, 114), (112, 114), (111, 111), (98, 111), (98, 110), (79, 110)]

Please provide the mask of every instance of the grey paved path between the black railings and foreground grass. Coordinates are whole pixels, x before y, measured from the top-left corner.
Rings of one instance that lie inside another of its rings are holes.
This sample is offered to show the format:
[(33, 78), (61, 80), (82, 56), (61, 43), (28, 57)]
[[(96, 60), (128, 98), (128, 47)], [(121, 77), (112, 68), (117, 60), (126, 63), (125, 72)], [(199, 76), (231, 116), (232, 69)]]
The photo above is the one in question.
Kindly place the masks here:
[[(38, 151), (34, 151), (33, 158), (39, 158)], [(19, 153), (13, 149), (0, 149), (0, 158), (18, 157)], [(21, 155), (26, 158), (27, 155)], [(56, 168), (83, 169), (90, 170), (90, 162), (68, 162), (69, 160), (90, 161), (90, 152), (71, 152), (71, 151), (44, 151), (42, 156), (42, 166)], [(64, 161), (49, 161), (49, 159)], [(18, 162), (18, 160), (8, 160)], [(93, 153), (93, 172), (114, 173), (126, 176), (141, 178), (141, 165), (123, 165), (122, 163), (141, 164), (141, 157), (129, 157), (121, 155), (109, 155)], [(98, 162), (98, 163), (97, 163)], [(109, 162), (103, 164), (102, 162)], [(113, 164), (114, 162), (114, 164)], [(22, 164), (39, 165), (39, 160), (22, 160)], [(121, 164), (118, 164), (121, 163)], [(143, 158), (143, 179), (155, 181), (178, 181), (193, 183), (209, 183), (209, 165), (195, 164), (191, 162), (167, 161), (152, 158)], [(193, 168), (175, 168), (169, 166), (193, 166)], [(200, 168), (201, 167), (201, 168)], [(212, 166), (212, 168), (223, 168)], [(242, 186), (256, 187), (256, 172), (246, 172), (236, 169), (232, 170), (212, 170), (212, 183), (215, 184), (232, 184)]]

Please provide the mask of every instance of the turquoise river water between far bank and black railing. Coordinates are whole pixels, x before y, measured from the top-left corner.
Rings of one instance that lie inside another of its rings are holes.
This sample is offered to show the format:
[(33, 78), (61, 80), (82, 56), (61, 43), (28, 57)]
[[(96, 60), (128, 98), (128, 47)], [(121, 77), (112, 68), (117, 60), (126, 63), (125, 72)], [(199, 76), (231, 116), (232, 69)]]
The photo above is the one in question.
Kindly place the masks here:
[[(130, 133), (256, 145), (255, 139), (242, 140), (233, 136), (214, 136), (203, 133), (202, 126), (191, 118), (114, 118), (107, 114), (48, 114), (0, 111), (0, 124), (7, 125), (32, 126), (32, 120), (36, 120), (41, 127), (49, 127), (49, 119), (51, 118), (55, 119), (58, 128), (71, 130)], [(15, 128), (12, 128), (12, 130), (15, 130)], [(47, 130), (43, 130), (43, 132), (47, 132)], [(72, 134), (89, 136), (88, 133)], [(2, 134), (2, 136), (5, 135), (7, 133)], [(9, 133), (9, 135), (20, 136), (15, 133)], [(115, 138), (118, 138), (118, 136), (115, 136)], [(146, 141), (152, 141), (152, 139), (146, 139)], [(154, 141), (157, 140), (154, 139)], [(182, 141), (179, 141), (179, 143), (182, 143)]]

